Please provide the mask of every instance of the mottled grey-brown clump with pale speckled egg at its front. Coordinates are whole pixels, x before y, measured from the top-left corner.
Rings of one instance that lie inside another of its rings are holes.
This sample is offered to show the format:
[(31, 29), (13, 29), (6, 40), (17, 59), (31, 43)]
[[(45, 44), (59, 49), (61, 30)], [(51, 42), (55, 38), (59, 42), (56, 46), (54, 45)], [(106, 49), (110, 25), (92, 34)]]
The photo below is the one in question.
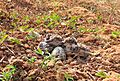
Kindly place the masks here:
[(86, 58), (89, 54), (89, 50), (78, 44), (75, 37), (63, 38), (56, 34), (47, 34), (44, 41), (38, 45), (38, 48), (41, 48), (44, 52), (47, 50), (61, 60), (65, 60), (70, 55)]

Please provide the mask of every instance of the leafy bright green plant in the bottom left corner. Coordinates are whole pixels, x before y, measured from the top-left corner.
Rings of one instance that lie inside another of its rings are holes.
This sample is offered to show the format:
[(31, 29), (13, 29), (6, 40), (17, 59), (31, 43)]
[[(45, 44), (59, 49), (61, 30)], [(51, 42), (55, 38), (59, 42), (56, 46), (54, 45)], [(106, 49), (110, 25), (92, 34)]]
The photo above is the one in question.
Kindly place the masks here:
[(2, 81), (10, 81), (10, 79), (12, 78), (12, 75), (16, 71), (15, 66), (12, 66), (12, 65), (7, 65), (6, 68), (9, 70), (2, 72), (2, 78), (0, 78), (0, 80), (2, 80)]

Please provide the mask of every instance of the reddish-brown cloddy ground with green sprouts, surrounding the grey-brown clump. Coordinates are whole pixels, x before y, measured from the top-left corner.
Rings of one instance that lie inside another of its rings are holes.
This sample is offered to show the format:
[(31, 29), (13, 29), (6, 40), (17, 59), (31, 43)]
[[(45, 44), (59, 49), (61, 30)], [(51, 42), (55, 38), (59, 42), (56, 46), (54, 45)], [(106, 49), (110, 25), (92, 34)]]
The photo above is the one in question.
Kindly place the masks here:
[[(74, 35), (91, 55), (36, 53), (48, 33)], [(120, 5), (112, 0), (0, 0), (1, 81), (120, 81)]]

